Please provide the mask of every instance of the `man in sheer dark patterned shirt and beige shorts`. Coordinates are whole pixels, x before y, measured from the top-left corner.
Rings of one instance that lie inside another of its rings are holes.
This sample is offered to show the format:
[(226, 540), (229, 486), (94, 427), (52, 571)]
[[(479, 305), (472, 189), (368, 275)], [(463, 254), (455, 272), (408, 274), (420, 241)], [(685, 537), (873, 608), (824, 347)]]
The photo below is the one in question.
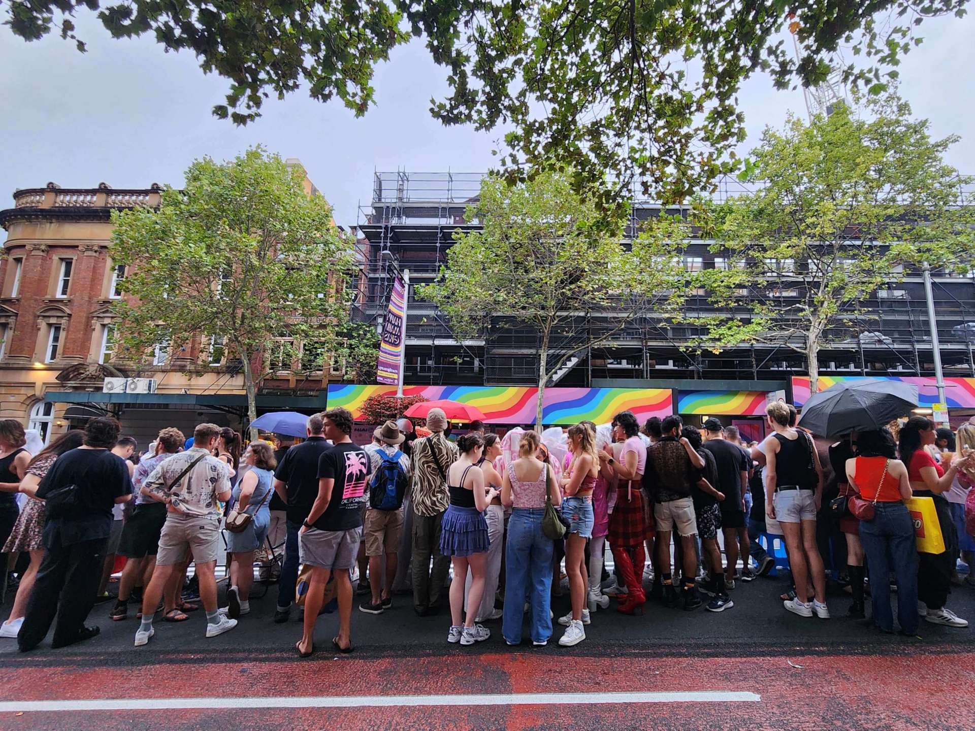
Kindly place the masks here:
[[(681, 436), (680, 416), (667, 416), (660, 425), (663, 437), (646, 450), (646, 472), (643, 487), (653, 495), (653, 515), (657, 528), (657, 572), (661, 576), (660, 597), (669, 606), (678, 601), (671, 574), (671, 534), (677, 527), (683, 549), (683, 608), (692, 611), (703, 602), (696, 586), (697, 551), (694, 536), (697, 519), (694, 515), (693, 486), (698, 472), (705, 468), (704, 458)], [(614, 555), (615, 556), (615, 555)]]

